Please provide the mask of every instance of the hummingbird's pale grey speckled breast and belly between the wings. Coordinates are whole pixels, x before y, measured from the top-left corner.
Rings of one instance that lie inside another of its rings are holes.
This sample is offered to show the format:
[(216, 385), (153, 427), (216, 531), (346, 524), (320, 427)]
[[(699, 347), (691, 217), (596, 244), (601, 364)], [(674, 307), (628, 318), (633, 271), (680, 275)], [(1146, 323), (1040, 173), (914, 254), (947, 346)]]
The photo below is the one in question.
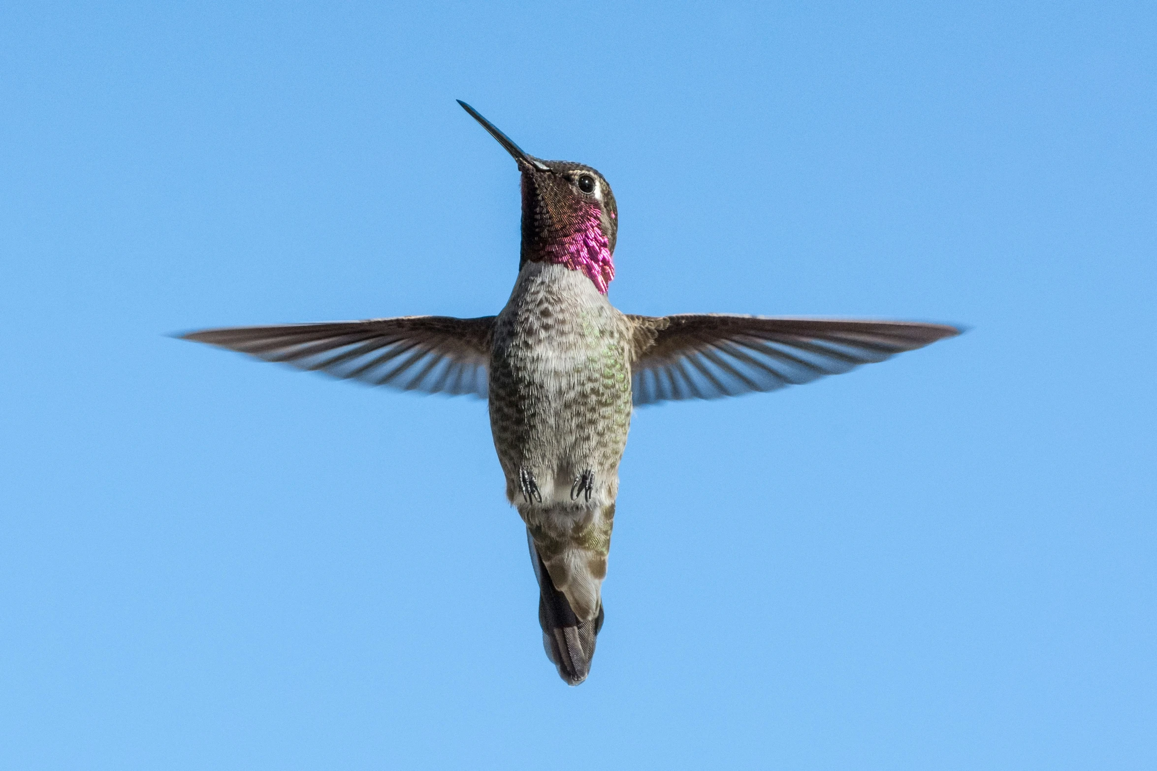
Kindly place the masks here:
[(560, 266), (530, 273), (496, 320), (491, 361), (491, 428), (507, 495), (523, 503), (525, 468), (544, 505), (570, 501), (575, 479), (590, 470), (590, 503), (612, 503), (631, 427), (625, 320), (585, 276)]

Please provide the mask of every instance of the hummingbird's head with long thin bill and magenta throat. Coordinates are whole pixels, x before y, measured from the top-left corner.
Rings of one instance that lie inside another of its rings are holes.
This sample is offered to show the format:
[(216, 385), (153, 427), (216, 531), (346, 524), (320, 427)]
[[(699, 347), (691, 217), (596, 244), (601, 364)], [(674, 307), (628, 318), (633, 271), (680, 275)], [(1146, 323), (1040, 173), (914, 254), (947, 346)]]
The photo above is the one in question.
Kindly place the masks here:
[(491, 136), (514, 156), (522, 172), (522, 259), (554, 262), (583, 273), (602, 294), (614, 279), (619, 210), (603, 175), (569, 161), (528, 155), (477, 110), (459, 99)]

